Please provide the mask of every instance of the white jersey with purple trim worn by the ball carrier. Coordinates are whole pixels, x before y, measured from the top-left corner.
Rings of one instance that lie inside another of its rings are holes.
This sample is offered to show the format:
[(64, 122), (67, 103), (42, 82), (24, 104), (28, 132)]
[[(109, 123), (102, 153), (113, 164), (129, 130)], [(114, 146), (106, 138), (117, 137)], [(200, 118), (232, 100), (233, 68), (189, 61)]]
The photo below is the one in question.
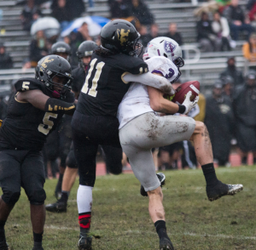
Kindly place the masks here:
[[(178, 76), (177, 66), (164, 56), (154, 56), (145, 60), (148, 64), (148, 71), (160, 73), (167, 80), (172, 82)], [(171, 83), (170, 83), (171, 84)], [(144, 113), (154, 112), (149, 104), (148, 88), (139, 82), (131, 83), (131, 86), (121, 103), (117, 112), (119, 129), (137, 116)]]

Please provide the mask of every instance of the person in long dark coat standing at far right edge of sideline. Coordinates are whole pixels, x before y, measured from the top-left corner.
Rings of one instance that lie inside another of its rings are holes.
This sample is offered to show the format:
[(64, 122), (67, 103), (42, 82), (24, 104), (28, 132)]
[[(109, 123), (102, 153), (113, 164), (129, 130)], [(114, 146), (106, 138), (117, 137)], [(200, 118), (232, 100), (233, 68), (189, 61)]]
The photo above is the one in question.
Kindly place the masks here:
[(253, 151), (253, 164), (256, 164), (256, 71), (248, 71), (246, 84), (237, 92), (233, 103), (241, 162), (247, 165), (247, 153)]

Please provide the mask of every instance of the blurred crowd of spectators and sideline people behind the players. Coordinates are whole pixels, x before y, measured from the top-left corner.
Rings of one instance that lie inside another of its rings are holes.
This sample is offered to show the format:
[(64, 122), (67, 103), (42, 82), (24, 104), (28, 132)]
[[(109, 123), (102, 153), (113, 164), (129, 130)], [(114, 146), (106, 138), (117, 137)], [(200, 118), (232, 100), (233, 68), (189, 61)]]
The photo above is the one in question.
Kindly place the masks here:
[[(111, 19), (123, 18), (130, 20), (140, 32), (140, 42), (146, 47), (154, 37), (170, 37), (183, 45), (182, 33), (177, 24), (170, 23), (168, 30), (160, 33), (159, 26), (154, 23), (154, 15), (143, 0), (108, 0)], [(90, 1), (90, 7), (93, 7)], [(54, 0), (50, 5), (51, 15), (65, 30), (71, 22), (86, 14), (83, 0)], [(20, 14), (23, 29), (30, 31), (32, 23), (43, 17), (42, 11), (34, 0), (27, 0)], [(229, 5), (199, 14), (196, 24), (197, 41), (202, 52), (230, 51), (236, 47), (240, 36), (247, 39), (242, 47), (244, 57), (256, 61), (256, 0), (249, 0), (247, 12), (238, 5), (238, 0), (231, 0)], [(50, 54), (53, 43), (63, 40), (71, 48), (70, 63), (73, 68), (78, 66), (76, 51), (84, 41), (94, 40), (100, 45), (99, 37), (90, 37), (87, 23), (83, 23), (78, 31), (72, 31), (66, 37), (46, 37), (44, 31), (37, 31), (30, 43), (30, 56), (23, 62), (23, 69), (35, 67), (38, 60)], [(0, 68), (11, 69), (13, 62), (0, 43)], [(177, 84), (179, 84), (177, 82)], [(231, 142), (237, 145), (241, 162), (247, 164), (247, 153), (253, 151), (253, 162), (256, 164), (256, 72), (249, 71), (246, 77), (236, 69), (236, 58), (227, 60), (227, 68), (219, 75), (212, 88), (212, 95), (200, 95), (200, 113), (195, 120), (205, 122), (212, 139), (215, 162), (220, 166), (230, 166)], [(6, 114), (6, 101), (0, 100), (1, 119)], [(255, 138), (255, 139), (253, 139)], [(49, 142), (51, 143), (51, 142)], [(56, 146), (59, 148), (59, 145)], [(51, 152), (53, 153), (53, 152)], [(49, 154), (48, 154), (49, 155)], [(176, 169), (177, 162), (182, 159), (183, 168), (196, 168), (197, 162), (193, 145), (188, 141), (155, 149), (155, 161), (158, 168)], [(58, 155), (49, 157), (52, 173), (57, 172)], [(52, 159), (53, 160), (52, 160)], [(124, 165), (129, 164), (127, 162)]]

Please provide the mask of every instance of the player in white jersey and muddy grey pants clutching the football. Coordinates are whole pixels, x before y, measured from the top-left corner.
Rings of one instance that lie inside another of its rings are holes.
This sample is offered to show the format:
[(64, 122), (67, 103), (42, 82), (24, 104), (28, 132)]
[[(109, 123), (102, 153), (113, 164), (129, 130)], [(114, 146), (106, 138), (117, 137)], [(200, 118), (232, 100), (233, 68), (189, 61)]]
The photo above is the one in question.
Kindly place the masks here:
[[(168, 37), (157, 37), (148, 43), (143, 60), (149, 72), (166, 77), (174, 82), (180, 77), (179, 67), (183, 66), (182, 51), (178, 44)], [(123, 77), (129, 82), (129, 75)], [(213, 167), (212, 145), (203, 122), (195, 122), (188, 114), (196, 105), (187, 94), (182, 105), (177, 105), (163, 97), (156, 88), (141, 83), (131, 84), (125, 94), (117, 117), (119, 119), (119, 139), (123, 151), (129, 157), (131, 168), (142, 185), (142, 195), (148, 196), (148, 210), (160, 237), (160, 249), (174, 249), (166, 234), (165, 210), (160, 180), (155, 175), (151, 149), (171, 145), (177, 141), (191, 140), (195, 145), (197, 161), (207, 181), (207, 196), (210, 201), (221, 196), (234, 195), (242, 190), (242, 185), (225, 185), (219, 181)], [(159, 113), (169, 114), (162, 116)]]

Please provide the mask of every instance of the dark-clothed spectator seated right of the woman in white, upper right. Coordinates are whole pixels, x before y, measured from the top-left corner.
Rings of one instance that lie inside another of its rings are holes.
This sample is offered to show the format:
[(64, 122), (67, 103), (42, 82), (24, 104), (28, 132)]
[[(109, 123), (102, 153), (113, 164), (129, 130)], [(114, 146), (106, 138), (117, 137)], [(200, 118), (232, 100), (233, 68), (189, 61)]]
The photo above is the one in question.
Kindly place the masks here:
[(235, 41), (239, 38), (239, 31), (247, 31), (248, 38), (254, 30), (238, 3), (239, 0), (231, 0), (230, 6), (224, 9), (224, 15), (229, 21), (231, 36)]

